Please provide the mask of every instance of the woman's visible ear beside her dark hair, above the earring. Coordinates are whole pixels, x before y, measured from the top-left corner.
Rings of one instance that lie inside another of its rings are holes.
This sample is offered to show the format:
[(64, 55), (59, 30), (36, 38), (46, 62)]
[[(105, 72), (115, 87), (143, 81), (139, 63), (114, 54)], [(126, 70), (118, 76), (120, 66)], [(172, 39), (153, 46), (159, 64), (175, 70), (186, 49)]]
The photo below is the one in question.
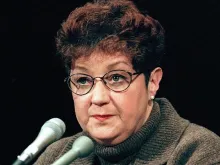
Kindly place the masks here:
[(151, 72), (148, 82), (149, 97), (156, 95), (157, 90), (159, 89), (159, 84), (162, 79), (162, 76), (163, 76), (163, 71), (160, 67), (155, 68)]

